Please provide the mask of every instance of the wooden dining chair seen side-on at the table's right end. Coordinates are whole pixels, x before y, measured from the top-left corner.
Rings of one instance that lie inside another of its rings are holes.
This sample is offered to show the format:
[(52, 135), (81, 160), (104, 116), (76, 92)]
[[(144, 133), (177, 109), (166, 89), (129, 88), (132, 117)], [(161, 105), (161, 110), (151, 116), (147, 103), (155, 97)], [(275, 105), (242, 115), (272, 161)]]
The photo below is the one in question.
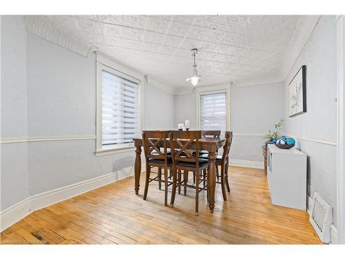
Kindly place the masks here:
[[(225, 133), (225, 145), (223, 150), (223, 155), (216, 155), (215, 165), (216, 169), (221, 166), (220, 182), (217, 180), (217, 184), (221, 184), (221, 193), (223, 194), (223, 199), (226, 200), (226, 189), (230, 192), (230, 184), (228, 180), (228, 167), (229, 167), (229, 153), (231, 143), (233, 142), (233, 132), (226, 131)], [(201, 155), (202, 159), (207, 159), (208, 155)]]

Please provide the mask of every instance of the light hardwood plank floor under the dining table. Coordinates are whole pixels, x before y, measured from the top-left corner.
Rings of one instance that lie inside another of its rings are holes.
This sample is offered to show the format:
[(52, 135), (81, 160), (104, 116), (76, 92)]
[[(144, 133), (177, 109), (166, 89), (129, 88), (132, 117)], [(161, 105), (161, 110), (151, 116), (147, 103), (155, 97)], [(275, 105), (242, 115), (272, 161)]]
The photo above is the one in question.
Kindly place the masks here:
[[(320, 244), (306, 211), (270, 204), (263, 170), (230, 166), (228, 200), (217, 184), (214, 213), (194, 190), (164, 207), (164, 191), (152, 182), (142, 200), (134, 178), (103, 186), (34, 211), (1, 233), (2, 244)], [(170, 193), (169, 193), (170, 199)]]

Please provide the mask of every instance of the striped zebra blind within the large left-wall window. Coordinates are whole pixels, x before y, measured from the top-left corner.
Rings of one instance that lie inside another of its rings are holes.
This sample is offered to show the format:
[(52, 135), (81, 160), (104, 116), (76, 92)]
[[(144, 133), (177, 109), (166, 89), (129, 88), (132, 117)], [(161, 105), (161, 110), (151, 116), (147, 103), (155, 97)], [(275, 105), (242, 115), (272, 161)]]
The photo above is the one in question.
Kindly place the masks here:
[(102, 147), (131, 146), (139, 135), (138, 84), (102, 70)]

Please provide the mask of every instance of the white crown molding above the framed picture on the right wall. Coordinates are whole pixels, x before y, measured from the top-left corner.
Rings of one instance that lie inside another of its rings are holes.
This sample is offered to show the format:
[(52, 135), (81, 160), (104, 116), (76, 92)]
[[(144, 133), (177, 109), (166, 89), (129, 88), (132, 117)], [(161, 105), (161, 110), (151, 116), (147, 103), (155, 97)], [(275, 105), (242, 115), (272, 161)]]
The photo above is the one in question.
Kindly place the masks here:
[(290, 44), (286, 50), (282, 66), (280, 68), (279, 77), (282, 81), (284, 81), (288, 76), (288, 73), (293, 67), (293, 64), (295, 64), (297, 57), (299, 57), (299, 54), (302, 52), (304, 46), (306, 46), (308, 39), (313, 34), (320, 18), (321, 15), (302, 15), (299, 18), (297, 28), (290, 40)]

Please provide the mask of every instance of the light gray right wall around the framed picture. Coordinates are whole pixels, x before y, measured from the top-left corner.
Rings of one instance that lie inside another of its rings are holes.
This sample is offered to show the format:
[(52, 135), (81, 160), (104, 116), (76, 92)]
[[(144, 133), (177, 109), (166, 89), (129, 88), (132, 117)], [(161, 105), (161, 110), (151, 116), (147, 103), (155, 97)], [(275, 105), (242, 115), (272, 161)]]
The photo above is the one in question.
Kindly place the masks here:
[[(286, 133), (336, 140), (336, 38), (335, 17), (323, 16), (288, 73), (284, 82)], [(288, 117), (288, 84), (302, 65), (306, 65), (307, 112)], [(336, 209), (336, 146), (299, 140), (297, 147), (308, 155), (308, 195), (313, 197), (316, 191)]]

